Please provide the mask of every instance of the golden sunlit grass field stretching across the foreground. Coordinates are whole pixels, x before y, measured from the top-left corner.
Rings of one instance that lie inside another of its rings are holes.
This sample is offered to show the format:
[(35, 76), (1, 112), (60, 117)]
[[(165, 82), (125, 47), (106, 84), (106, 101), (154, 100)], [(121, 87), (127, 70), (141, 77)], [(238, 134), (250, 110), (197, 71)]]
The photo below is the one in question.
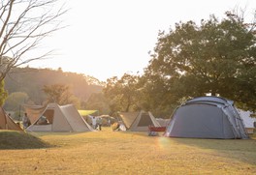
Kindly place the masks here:
[(0, 145), (0, 174), (256, 174), (256, 135), (244, 140), (189, 139), (111, 128), (29, 134), (51, 147)]

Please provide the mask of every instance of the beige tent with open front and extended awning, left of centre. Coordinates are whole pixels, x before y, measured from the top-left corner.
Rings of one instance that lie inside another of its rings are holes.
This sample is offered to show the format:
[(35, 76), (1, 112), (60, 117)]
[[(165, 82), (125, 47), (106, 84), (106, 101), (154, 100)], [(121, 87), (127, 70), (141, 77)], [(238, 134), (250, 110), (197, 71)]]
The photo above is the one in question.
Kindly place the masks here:
[(39, 106), (25, 106), (25, 111), (32, 123), (26, 131), (92, 131), (73, 104), (48, 103), (43, 111)]

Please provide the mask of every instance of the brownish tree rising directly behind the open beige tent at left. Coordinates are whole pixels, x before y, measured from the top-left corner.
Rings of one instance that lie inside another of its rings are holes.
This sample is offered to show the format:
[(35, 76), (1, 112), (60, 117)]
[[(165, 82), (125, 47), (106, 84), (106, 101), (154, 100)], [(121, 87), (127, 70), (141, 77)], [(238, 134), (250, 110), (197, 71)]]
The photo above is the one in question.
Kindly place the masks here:
[(73, 103), (80, 108), (80, 101), (70, 90), (70, 86), (64, 84), (45, 85), (43, 91), (48, 96), (48, 102), (56, 102), (60, 105)]

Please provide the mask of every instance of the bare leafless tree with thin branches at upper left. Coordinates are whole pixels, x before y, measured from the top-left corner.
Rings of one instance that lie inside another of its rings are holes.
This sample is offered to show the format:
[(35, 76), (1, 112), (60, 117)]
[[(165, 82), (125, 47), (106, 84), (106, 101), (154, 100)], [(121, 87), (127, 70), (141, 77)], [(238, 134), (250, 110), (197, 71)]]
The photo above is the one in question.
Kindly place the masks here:
[(52, 50), (29, 56), (42, 40), (63, 28), (67, 13), (59, 0), (1, 0), (0, 2), (0, 81), (13, 68), (47, 58)]

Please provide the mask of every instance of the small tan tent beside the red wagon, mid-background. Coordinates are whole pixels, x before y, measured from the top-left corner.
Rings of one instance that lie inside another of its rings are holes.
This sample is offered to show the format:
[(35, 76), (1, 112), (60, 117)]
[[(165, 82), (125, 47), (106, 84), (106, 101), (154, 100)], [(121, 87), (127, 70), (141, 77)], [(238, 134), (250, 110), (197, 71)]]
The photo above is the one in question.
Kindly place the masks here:
[(148, 131), (148, 126), (160, 127), (151, 112), (120, 112), (119, 116), (128, 131)]

